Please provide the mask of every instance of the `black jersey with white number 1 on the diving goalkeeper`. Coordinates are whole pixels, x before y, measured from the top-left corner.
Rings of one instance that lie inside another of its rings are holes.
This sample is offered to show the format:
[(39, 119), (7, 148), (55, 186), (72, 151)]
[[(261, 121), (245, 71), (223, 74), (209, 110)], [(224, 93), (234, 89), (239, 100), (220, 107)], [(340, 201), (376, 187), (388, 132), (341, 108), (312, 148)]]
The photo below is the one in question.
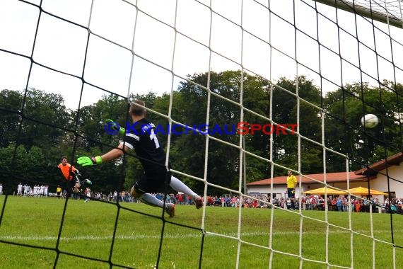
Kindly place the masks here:
[(165, 151), (160, 146), (155, 129), (153, 123), (143, 118), (128, 128), (124, 141), (127, 147), (136, 151), (148, 175), (166, 171)]

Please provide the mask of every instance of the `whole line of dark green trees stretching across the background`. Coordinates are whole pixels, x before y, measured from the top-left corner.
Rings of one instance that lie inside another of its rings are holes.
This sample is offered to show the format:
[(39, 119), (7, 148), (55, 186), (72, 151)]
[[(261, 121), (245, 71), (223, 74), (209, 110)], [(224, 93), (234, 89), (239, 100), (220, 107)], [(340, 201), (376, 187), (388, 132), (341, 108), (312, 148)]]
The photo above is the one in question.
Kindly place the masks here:
[[(204, 175), (211, 184), (234, 190), (242, 188), (241, 166), (245, 168), (246, 181), (252, 182), (271, 176), (271, 161), (276, 164), (274, 176), (284, 175), (281, 166), (298, 170), (300, 165), (305, 174), (323, 173), (325, 168), (327, 172), (339, 172), (346, 170), (345, 156), (349, 169), (356, 170), (402, 148), (399, 124), (402, 84), (390, 81), (382, 81), (382, 86), (346, 84), (324, 95), (305, 76), (294, 80), (280, 78), (276, 84), (241, 71), (193, 74), (187, 79), (172, 95), (156, 96), (151, 92), (132, 94), (130, 99), (144, 100), (149, 109), (147, 117), (163, 127), (175, 122), (195, 127), (207, 123), (210, 127), (238, 126), (242, 115), (243, 122), (256, 126), (298, 123), (296, 130), (302, 136), (298, 138), (288, 130), (274, 132), (271, 137), (257, 127), (243, 135), (242, 141), (236, 132), (170, 135), (170, 168), (192, 176), (179, 177), (200, 193), (204, 183), (194, 177)], [(63, 182), (54, 168), (60, 157), (68, 156), (75, 165), (78, 156), (95, 156), (116, 147), (122, 137), (108, 135), (105, 120), (116, 120), (125, 126), (130, 120), (128, 109), (127, 99), (114, 94), (105, 94), (93, 105), (71, 110), (66, 108), (61, 94), (36, 88), (2, 90), (0, 183), (4, 193), (15, 191), (19, 182), (47, 184), (52, 192), (52, 186)], [(168, 120), (168, 113), (173, 122)], [(360, 120), (367, 113), (378, 115), (380, 125), (364, 130)], [(175, 126), (175, 133), (184, 131), (185, 127)], [(166, 148), (168, 134), (159, 132), (158, 137)], [(246, 150), (242, 163), (239, 147)], [(93, 181), (93, 191), (107, 193), (129, 189), (142, 173), (134, 153), (80, 170)], [(228, 190), (209, 186), (207, 192), (221, 194)]]

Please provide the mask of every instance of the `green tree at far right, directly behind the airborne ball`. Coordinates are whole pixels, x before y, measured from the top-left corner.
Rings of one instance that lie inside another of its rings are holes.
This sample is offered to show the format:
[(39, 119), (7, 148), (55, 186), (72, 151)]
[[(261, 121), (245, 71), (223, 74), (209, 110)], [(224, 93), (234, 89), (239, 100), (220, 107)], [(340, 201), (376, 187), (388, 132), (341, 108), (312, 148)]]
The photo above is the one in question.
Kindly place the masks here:
[[(326, 143), (330, 149), (348, 155), (353, 170), (361, 168), (364, 163), (384, 159), (402, 148), (402, 130), (396, 124), (402, 111), (397, 94), (402, 92), (402, 85), (397, 84), (392, 89), (391, 84), (387, 81), (384, 81), (382, 87), (373, 87), (367, 83), (346, 84), (337, 91), (327, 93), (324, 101), (327, 111)], [(360, 121), (368, 113), (378, 115), (380, 125), (364, 129)], [(358, 143), (360, 140), (363, 143)], [(344, 161), (340, 157), (334, 163), (341, 164), (339, 171), (345, 170)]]

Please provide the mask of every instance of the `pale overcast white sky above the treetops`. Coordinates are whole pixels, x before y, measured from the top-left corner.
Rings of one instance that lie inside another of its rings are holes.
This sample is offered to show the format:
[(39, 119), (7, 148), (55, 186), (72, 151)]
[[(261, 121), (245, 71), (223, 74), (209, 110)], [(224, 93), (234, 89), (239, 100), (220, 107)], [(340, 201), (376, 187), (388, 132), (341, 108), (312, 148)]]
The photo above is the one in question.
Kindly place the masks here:
[(189, 74), (242, 67), (274, 82), (303, 74), (324, 93), (361, 76), (403, 81), (402, 29), (375, 22), (374, 30), (360, 17), (356, 28), (354, 15), (322, 4), (317, 16), (311, 0), (26, 2), (0, 1), (0, 90), (28, 84), (61, 94), (71, 109), (82, 87), (81, 106), (102, 89), (160, 95)]

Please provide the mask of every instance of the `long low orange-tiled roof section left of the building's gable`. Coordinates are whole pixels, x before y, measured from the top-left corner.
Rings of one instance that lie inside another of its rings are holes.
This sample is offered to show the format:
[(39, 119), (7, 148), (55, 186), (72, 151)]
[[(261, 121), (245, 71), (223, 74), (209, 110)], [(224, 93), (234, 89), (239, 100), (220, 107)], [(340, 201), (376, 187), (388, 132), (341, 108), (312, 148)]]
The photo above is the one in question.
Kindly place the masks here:
[[(301, 180), (302, 183), (315, 183), (316, 181), (323, 182), (324, 181), (324, 174), (323, 173), (313, 173), (310, 175), (304, 175)], [(298, 175), (294, 175), (299, 180)], [(311, 179), (312, 178), (312, 179)], [(364, 178), (367, 178), (365, 175), (356, 175), (355, 172), (349, 172), (349, 180), (350, 181), (363, 181)], [(315, 181), (313, 181), (315, 180)], [(287, 176), (277, 176), (273, 178), (274, 185), (282, 185), (286, 184)], [(338, 181), (347, 181), (347, 173), (346, 172), (339, 172), (339, 173), (327, 173), (326, 174), (326, 182), (338, 182)], [(271, 178), (263, 179), (262, 181), (255, 181), (251, 183), (247, 183), (248, 186), (255, 186), (255, 185), (270, 185)]]

